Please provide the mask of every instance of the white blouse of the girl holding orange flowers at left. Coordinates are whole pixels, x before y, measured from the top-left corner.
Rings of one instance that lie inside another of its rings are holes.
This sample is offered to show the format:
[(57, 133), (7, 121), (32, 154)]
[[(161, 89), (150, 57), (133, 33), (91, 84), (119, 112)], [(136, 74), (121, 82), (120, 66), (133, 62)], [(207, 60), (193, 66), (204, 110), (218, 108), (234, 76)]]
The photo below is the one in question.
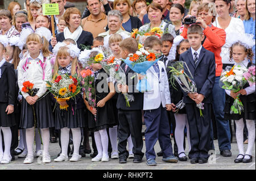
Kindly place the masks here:
[[(46, 57), (46, 61), (44, 62), (43, 54), (40, 52), (39, 56), (35, 59), (31, 58), (28, 53), (28, 56), (20, 60), (18, 65), (18, 85), (20, 90), (22, 90), (23, 82), (30, 81), (31, 83), (34, 83), (33, 88), (39, 89), (36, 93), (39, 98), (47, 91), (46, 81), (51, 81), (52, 79), (50, 58), (51, 57)], [(44, 71), (39, 61), (44, 62)], [(26, 99), (29, 94), (22, 92), (22, 95), (24, 99)]]

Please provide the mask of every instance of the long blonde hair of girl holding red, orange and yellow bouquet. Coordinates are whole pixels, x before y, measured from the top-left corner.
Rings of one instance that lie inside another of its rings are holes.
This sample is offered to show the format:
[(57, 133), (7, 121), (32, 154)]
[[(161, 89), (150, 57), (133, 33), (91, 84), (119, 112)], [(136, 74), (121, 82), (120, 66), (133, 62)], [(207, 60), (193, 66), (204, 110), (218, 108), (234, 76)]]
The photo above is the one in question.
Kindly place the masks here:
[[(60, 65), (59, 65), (59, 62), (58, 62), (58, 57), (59, 56), (70, 56), (70, 54), (68, 53), (68, 47), (66, 47), (66, 46), (60, 47), (60, 49), (58, 50), (58, 53), (57, 53), (57, 56), (56, 56), (56, 60), (55, 60), (55, 64), (54, 64), (53, 79), (57, 76), (58, 70), (60, 68)], [(76, 73), (79, 73), (79, 72), (80, 72), (80, 66), (79, 66), (77, 57), (76, 58), (72, 58), (71, 75), (73, 76), (73, 75), (75, 75)]]

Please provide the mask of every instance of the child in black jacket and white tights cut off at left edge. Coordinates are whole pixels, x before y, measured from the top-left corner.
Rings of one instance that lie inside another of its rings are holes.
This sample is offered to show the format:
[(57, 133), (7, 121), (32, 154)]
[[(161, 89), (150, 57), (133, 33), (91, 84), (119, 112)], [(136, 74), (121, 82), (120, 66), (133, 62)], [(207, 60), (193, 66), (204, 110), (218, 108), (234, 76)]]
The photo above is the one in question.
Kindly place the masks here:
[[(2, 42), (2, 40), (0, 42)], [(2, 164), (10, 163), (12, 158), (10, 153), (10, 127), (15, 125), (13, 112), (16, 99), (14, 65), (6, 62), (5, 58), (3, 58), (5, 52), (5, 47), (0, 43), (0, 162)], [(3, 132), (3, 138), (5, 140), (5, 151), (3, 151), (1, 131)]]

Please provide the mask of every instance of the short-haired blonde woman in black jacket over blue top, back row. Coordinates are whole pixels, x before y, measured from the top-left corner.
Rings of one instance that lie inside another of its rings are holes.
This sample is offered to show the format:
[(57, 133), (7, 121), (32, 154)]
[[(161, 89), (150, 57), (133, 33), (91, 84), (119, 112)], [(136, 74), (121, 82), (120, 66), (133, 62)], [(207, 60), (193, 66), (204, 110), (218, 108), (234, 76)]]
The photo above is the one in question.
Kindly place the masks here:
[(130, 0), (114, 0), (114, 10), (118, 10), (123, 15), (122, 27), (127, 32), (131, 32), (135, 28), (140, 28), (142, 22), (138, 17), (130, 15), (131, 1)]

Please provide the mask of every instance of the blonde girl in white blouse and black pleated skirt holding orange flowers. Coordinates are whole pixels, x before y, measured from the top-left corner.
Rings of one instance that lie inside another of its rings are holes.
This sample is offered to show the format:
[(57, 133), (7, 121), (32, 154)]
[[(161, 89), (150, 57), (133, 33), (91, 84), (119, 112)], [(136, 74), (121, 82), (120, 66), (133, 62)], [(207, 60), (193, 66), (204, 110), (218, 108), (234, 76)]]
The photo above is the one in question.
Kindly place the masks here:
[[(46, 81), (52, 77), (51, 52), (48, 50), (48, 40), (38, 33), (28, 35), (26, 44), (27, 56), (24, 56), (18, 65), (18, 85), (23, 95), (20, 128), (26, 129), (28, 151), (23, 163), (34, 161), (35, 128), (36, 131), (39, 131), (40, 128), (42, 136), (43, 163), (49, 163), (51, 162), (48, 150), (49, 128), (54, 127), (54, 123), (52, 121), (51, 100), (49, 94), (46, 94)], [(30, 93), (26, 91), (26, 86), (30, 87)]]

